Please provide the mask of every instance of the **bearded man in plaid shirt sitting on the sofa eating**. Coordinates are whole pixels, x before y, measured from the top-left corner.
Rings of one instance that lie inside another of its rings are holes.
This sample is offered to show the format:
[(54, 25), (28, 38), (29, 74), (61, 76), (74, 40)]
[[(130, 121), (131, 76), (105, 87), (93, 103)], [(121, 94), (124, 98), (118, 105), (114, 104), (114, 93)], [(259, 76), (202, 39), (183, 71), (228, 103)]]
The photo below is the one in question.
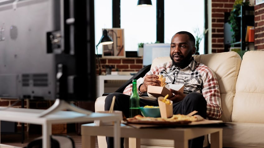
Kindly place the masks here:
[[(184, 84), (184, 92), (172, 90), (175, 95), (173, 114), (189, 114), (196, 110), (203, 118), (219, 119), (222, 114), (220, 92), (217, 78), (206, 65), (198, 63), (192, 57), (195, 54), (195, 38), (186, 31), (173, 35), (170, 47), (171, 62), (158, 65), (151, 69), (143, 78), (137, 80), (139, 95), (147, 92), (148, 85), (160, 86), (158, 75), (166, 78), (166, 83)], [(157, 78), (157, 79), (156, 79)], [(110, 109), (113, 96), (116, 96), (114, 110), (120, 110), (129, 117), (129, 98), (132, 84), (123, 93), (111, 93), (106, 97), (105, 110)], [(158, 106), (158, 101), (140, 99), (140, 106)], [(107, 147), (113, 147), (113, 138), (106, 137)], [(204, 136), (189, 141), (189, 147), (202, 148)], [(122, 138), (121, 143), (124, 142)], [(121, 144), (123, 147), (123, 144)]]

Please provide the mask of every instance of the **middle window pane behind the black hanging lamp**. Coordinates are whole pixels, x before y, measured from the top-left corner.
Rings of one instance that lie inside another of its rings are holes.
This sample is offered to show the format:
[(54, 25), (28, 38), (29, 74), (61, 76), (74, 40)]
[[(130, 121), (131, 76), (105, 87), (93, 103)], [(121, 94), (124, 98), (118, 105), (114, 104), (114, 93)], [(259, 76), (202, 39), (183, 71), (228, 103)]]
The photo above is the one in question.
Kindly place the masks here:
[(156, 42), (156, 0), (151, 7), (138, 7), (137, 1), (120, 1), (120, 26), (125, 32), (125, 51), (136, 51), (138, 43)]

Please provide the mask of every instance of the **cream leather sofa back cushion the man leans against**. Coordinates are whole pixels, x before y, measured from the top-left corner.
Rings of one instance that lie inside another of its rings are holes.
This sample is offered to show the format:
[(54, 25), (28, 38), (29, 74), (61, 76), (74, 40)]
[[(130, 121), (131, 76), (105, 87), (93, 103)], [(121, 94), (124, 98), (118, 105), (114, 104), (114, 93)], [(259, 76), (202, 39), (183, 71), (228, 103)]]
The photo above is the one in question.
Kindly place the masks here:
[[(236, 52), (222, 52), (204, 55), (194, 55), (197, 62), (207, 65), (214, 71), (220, 89), (222, 117), (224, 122), (231, 122), (235, 85), (241, 64), (241, 57)], [(161, 63), (171, 61), (170, 57), (158, 57), (153, 60), (151, 68)]]

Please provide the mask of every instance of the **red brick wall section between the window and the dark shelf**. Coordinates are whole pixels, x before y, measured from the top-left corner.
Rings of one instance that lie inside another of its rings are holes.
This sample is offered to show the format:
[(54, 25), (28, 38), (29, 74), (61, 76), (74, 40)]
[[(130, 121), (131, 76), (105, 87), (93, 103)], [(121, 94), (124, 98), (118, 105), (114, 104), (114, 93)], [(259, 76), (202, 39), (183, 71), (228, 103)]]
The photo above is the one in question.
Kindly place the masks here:
[(235, 0), (212, 0), (212, 53), (224, 52), (224, 12), (230, 12)]

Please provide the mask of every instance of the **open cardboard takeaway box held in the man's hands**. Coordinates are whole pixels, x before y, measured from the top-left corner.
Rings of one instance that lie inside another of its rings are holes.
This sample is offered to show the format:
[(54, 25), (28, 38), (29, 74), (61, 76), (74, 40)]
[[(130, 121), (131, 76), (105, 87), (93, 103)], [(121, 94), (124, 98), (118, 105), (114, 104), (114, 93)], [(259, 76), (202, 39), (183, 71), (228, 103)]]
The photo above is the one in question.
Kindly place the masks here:
[(148, 95), (158, 98), (159, 96), (166, 96), (168, 99), (174, 96), (174, 94), (170, 91), (170, 89), (177, 90), (183, 92), (184, 85), (183, 84), (167, 84), (165, 87), (160, 86), (148, 86)]

